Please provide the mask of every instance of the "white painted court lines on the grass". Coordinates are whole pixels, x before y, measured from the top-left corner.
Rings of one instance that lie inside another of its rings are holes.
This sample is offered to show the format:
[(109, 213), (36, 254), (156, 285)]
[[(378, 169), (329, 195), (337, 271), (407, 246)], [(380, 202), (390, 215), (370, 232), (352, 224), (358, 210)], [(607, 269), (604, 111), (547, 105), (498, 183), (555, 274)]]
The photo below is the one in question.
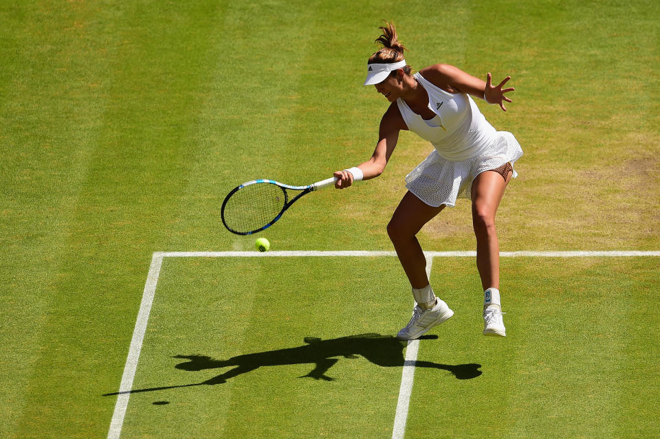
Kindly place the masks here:
[[(476, 256), (475, 251), (427, 251), (425, 252), (427, 260), (432, 258), (463, 258)], [(151, 258), (151, 267), (146, 278), (144, 285), (144, 293), (142, 294), (142, 302), (140, 303), (140, 311), (137, 313), (137, 320), (135, 322), (135, 329), (133, 330), (133, 339), (131, 339), (131, 347), (129, 348), (129, 355), (126, 358), (126, 365), (124, 367), (124, 374), (119, 387), (119, 394), (115, 409), (110, 423), (108, 432), (108, 439), (118, 439), (124, 424), (124, 416), (126, 416), (126, 408), (129, 405), (129, 398), (133, 388), (133, 379), (135, 378), (135, 370), (137, 370), (137, 361), (140, 359), (140, 351), (142, 350), (142, 341), (144, 340), (144, 333), (146, 333), (146, 324), (151, 313), (151, 304), (156, 291), (156, 284), (160, 275), (160, 269), (164, 258), (274, 258), (274, 257), (378, 257), (378, 256), (396, 256), (394, 251), (267, 251), (259, 253), (258, 251), (157, 251)], [(660, 256), (660, 251), (503, 251), (500, 252), (500, 257), (503, 258), (516, 258), (516, 257), (547, 257), (547, 258), (585, 258), (585, 257), (639, 257), (639, 256)], [(430, 269), (430, 262), (428, 262), (427, 270)], [(406, 363), (404, 363), (404, 372), (406, 366), (411, 365), (408, 363), (408, 356), (412, 357), (414, 353), (414, 360), (417, 360), (417, 346), (409, 343), (406, 348)], [(412, 368), (410, 368), (412, 370)], [(402, 377), (403, 381), (403, 377)], [(403, 385), (403, 383), (402, 383)], [(410, 385), (412, 386), (412, 375), (410, 378)], [(408, 395), (408, 398), (410, 395)], [(399, 399), (401, 394), (399, 394)], [(397, 412), (399, 411), (397, 405)], [(407, 407), (406, 407), (407, 413)], [(405, 420), (404, 427), (405, 429)], [(394, 437), (394, 436), (393, 436)], [(398, 436), (403, 438), (403, 436)]]

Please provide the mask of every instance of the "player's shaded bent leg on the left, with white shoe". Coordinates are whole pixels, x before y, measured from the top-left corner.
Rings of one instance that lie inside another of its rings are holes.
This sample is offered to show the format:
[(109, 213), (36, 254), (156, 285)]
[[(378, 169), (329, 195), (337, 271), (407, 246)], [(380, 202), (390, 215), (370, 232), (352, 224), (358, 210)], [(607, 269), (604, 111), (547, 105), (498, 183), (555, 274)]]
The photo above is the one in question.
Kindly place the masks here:
[(387, 233), (408, 276), (412, 296), (417, 303), (410, 322), (397, 335), (400, 339), (417, 339), (433, 326), (454, 315), (454, 311), (435, 296), (428, 282), (426, 257), (416, 237), (421, 227), (444, 207), (427, 205), (412, 192), (407, 192), (387, 225)]

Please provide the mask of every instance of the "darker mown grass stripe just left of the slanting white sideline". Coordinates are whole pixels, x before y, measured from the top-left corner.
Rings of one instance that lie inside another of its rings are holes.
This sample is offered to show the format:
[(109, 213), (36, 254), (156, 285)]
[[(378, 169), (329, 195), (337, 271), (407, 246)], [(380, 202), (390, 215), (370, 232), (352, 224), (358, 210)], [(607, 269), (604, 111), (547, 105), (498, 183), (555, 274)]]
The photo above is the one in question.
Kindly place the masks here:
[[(97, 52), (78, 54), (89, 65), (102, 65), (109, 75), (96, 77), (107, 81), (99, 85), (107, 108), (96, 153), (87, 157), (87, 172), (78, 189), (85, 203), (69, 212), (71, 233), (59, 255), (66, 268), (52, 300), (69, 306), (54, 306), (46, 313), (43, 328), (47, 336), (36, 363), (36, 370), (57, 370), (61, 379), (52, 381), (43, 373), (34, 376), (25, 394), (19, 436), (107, 433), (106, 416), (98, 415), (111, 410), (113, 403), (100, 401), (98, 395), (118, 381), (116, 375), (99, 379), (98, 370), (123, 368), (134, 323), (132, 317), (125, 318), (125, 303), (139, 304), (137, 285), (144, 283), (141, 265), (151, 254), (149, 250), (135, 253), (133, 248), (135, 243), (153, 240), (164, 244), (161, 227), (154, 227), (152, 221), (137, 223), (134, 218), (145, 210), (153, 214), (162, 209), (159, 218), (170, 221), (167, 218), (175, 213), (172, 207), (192, 164), (186, 155), (188, 133), (181, 128), (192, 119), (199, 83), (206, 82), (204, 71), (196, 70), (195, 65), (208, 46), (203, 30), (213, 23), (206, 19), (204, 5), (196, 10), (186, 5), (181, 8), (185, 9), (181, 14), (166, 17), (157, 8), (142, 4), (112, 11), (116, 15), (94, 10), (89, 22), (83, 23), (92, 27), (90, 32), (97, 38), (98, 29), (115, 26), (111, 38), (94, 40)], [(151, 26), (141, 25), (145, 22)], [(103, 50), (107, 47), (116, 47), (117, 56)], [(98, 102), (86, 93), (67, 98)], [(116, 264), (118, 255), (124, 261), (120, 265)], [(131, 284), (135, 289), (120, 286)], [(100, 324), (101, 315), (113, 315), (115, 321)], [(94, 340), (94, 352), (87, 352), (90, 340)], [(76, 359), (75, 366), (72, 359)], [(48, 401), (46, 411), (44, 400)]]

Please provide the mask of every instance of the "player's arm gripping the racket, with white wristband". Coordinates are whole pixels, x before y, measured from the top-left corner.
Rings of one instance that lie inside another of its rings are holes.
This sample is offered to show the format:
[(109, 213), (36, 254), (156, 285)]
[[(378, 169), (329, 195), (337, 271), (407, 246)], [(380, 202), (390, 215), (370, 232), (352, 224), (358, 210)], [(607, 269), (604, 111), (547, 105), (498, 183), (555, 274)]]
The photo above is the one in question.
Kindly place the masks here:
[[(408, 126), (399, 112), (399, 106), (396, 102), (392, 102), (380, 120), (378, 142), (371, 159), (357, 166), (362, 171), (363, 180), (373, 179), (383, 173), (397, 146), (399, 131), (407, 129)], [(353, 184), (353, 174), (348, 170), (337, 171), (334, 176), (339, 179), (335, 183), (335, 187), (338, 189), (348, 188)]]

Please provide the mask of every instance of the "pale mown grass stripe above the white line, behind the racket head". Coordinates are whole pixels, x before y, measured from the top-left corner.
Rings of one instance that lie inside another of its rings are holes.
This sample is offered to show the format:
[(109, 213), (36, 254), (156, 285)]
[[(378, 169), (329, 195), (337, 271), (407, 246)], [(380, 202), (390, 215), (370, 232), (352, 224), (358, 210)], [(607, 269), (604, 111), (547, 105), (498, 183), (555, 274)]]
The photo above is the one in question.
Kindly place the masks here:
[(195, 166), (181, 196), (177, 225), (182, 228), (175, 229), (170, 248), (214, 249), (220, 242), (253, 249), (253, 237), (234, 236), (223, 228), (220, 207), (225, 194), (250, 179), (303, 184), (312, 182), (306, 181), (307, 175), (330, 172), (311, 173), (294, 162), (296, 155), (305, 155), (292, 137), (309, 111), (296, 102), (309, 65), (305, 57), (312, 50), (312, 14), (292, 8), (265, 15), (255, 8), (252, 3), (228, 5), (210, 36), (221, 43), (208, 59), (213, 75), (195, 126), (201, 146), (190, 160)]

